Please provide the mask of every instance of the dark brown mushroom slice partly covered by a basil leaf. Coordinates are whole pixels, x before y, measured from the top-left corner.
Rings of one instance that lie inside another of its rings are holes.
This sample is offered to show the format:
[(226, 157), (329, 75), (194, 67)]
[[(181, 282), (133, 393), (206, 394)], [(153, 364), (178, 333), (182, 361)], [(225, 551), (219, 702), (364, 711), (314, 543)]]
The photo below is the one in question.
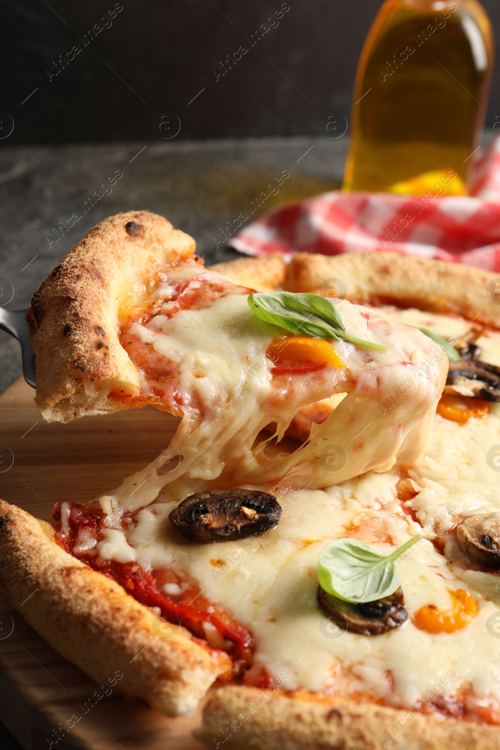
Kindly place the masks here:
[(399, 628), (408, 617), (401, 587), (394, 594), (376, 601), (351, 604), (328, 594), (321, 586), (318, 589), (319, 607), (341, 628), (361, 635), (380, 635)]

